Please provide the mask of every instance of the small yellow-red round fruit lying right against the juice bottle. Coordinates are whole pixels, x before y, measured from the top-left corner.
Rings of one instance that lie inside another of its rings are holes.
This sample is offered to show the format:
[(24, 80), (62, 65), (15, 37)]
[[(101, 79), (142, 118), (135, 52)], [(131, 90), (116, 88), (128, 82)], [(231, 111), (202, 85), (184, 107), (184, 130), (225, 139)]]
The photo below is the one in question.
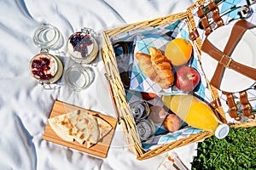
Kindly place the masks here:
[(175, 132), (182, 126), (182, 121), (178, 116), (170, 114), (166, 116), (164, 126), (168, 131)]

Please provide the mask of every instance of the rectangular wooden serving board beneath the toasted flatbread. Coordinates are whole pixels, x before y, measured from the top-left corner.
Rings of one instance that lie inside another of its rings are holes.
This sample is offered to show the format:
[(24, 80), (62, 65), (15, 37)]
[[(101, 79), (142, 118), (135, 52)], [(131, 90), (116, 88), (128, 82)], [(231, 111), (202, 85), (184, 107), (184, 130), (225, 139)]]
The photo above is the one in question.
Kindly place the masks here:
[(65, 114), (70, 111), (77, 111), (77, 110), (87, 111), (88, 113), (90, 113), (92, 115), (101, 117), (102, 119), (107, 121), (113, 127), (112, 130), (105, 137), (103, 137), (97, 144), (91, 146), (89, 149), (87, 149), (85, 145), (79, 144), (77, 141), (67, 142), (67, 141), (61, 139), (52, 130), (52, 128), (49, 126), (49, 123), (47, 123), (47, 125), (44, 129), (43, 139), (53, 142), (55, 144), (61, 144), (63, 146), (67, 146), (69, 148), (73, 148), (75, 150), (84, 151), (84, 152), (89, 153), (94, 156), (99, 156), (102, 158), (107, 157), (108, 149), (109, 149), (109, 146), (113, 139), (113, 133), (114, 133), (114, 130), (116, 127), (117, 119), (110, 117), (110, 116), (102, 115), (101, 113), (98, 113), (95, 111), (85, 110), (85, 109), (80, 108), (75, 105), (69, 105), (67, 103), (64, 103), (64, 102), (58, 101), (58, 100), (55, 100), (52, 111), (49, 114), (49, 118)]

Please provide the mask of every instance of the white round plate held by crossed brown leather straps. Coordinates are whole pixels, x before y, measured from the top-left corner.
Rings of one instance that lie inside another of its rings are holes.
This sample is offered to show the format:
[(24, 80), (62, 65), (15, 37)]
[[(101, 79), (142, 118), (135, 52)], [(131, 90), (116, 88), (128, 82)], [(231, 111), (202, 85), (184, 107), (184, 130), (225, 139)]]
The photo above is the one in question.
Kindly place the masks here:
[[(219, 50), (223, 51), (228, 39), (232, 26), (222, 26), (216, 31), (213, 31), (207, 38), (212, 45)], [(256, 28), (247, 30), (240, 42), (236, 45), (235, 50), (231, 54), (231, 58), (242, 65), (247, 65), (256, 68)], [(218, 61), (212, 59), (211, 56), (202, 52), (201, 64), (205, 71), (206, 77), (210, 81), (218, 65)], [(219, 89), (226, 92), (240, 92), (253, 86), (255, 81), (253, 79), (245, 77), (236, 71), (226, 68), (224, 76), (222, 78)]]

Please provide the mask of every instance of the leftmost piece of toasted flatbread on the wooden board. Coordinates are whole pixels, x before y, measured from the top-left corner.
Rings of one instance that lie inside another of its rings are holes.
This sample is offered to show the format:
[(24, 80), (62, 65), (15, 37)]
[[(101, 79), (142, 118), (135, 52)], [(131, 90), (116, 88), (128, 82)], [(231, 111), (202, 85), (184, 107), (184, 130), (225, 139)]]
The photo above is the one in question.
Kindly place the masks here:
[(70, 129), (73, 128), (73, 124), (69, 121), (66, 114), (49, 118), (48, 121), (49, 126), (61, 139), (73, 142), (74, 138), (69, 134)]

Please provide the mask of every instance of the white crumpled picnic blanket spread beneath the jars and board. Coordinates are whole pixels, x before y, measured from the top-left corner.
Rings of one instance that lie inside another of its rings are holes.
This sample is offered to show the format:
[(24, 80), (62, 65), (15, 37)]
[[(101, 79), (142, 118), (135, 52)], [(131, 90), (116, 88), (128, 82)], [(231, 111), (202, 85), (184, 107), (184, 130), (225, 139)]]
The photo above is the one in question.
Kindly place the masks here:
[[(44, 90), (32, 78), (29, 61), (39, 53), (32, 41), (38, 26), (56, 26), (64, 45), (52, 54), (61, 56), (65, 68), (67, 38), (84, 26), (93, 28), (101, 46), (101, 32), (143, 20), (184, 12), (192, 0), (14, 0), (0, 1), (0, 169), (157, 169), (165, 154), (137, 161), (118, 125), (108, 157), (91, 156), (42, 139), (55, 99), (66, 100), (70, 91)], [(115, 117), (99, 54), (94, 61), (96, 79), (79, 94), (82, 106)]]

